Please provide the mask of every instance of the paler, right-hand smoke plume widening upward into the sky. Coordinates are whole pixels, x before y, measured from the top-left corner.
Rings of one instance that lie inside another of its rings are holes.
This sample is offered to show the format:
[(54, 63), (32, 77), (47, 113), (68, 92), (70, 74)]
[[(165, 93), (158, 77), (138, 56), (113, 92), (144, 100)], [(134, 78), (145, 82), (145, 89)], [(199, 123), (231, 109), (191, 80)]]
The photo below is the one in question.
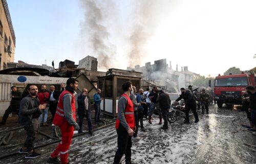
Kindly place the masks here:
[[(147, 56), (143, 46), (155, 34), (159, 21), (163, 19), (161, 17), (164, 17), (168, 1), (141, 0), (135, 1), (134, 4), (133, 17), (136, 18), (137, 22), (129, 39), (132, 44), (132, 50), (129, 54), (129, 66), (131, 67), (135, 64), (148, 61), (146, 57), (149, 56)], [(141, 59), (144, 60), (141, 61)]]

